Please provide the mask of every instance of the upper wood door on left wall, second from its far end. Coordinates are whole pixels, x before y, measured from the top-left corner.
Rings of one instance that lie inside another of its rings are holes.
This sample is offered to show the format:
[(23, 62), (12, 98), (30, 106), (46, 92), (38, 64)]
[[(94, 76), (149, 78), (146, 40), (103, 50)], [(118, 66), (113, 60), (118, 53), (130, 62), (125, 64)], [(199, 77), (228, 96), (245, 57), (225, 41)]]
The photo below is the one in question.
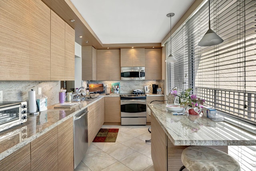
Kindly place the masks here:
[(65, 22), (51, 10), (51, 80), (65, 79)]

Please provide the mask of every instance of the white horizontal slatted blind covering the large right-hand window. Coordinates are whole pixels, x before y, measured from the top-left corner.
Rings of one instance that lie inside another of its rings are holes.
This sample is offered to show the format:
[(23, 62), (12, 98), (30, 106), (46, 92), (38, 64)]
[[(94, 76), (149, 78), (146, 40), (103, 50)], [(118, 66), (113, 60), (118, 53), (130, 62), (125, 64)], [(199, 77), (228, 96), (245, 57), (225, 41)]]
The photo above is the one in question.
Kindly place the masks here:
[(256, 122), (256, 0), (211, 0), (211, 28), (223, 43), (200, 47), (208, 30), (208, 3), (205, 3), (166, 42), (166, 94), (174, 86), (178, 93), (192, 93), (207, 106)]

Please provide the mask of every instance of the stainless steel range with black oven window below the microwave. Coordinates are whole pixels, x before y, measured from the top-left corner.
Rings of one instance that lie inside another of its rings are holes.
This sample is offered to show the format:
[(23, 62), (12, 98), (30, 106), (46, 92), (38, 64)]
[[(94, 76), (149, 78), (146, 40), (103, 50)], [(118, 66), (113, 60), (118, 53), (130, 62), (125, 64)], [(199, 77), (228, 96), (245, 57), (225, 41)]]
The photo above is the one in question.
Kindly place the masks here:
[(146, 125), (146, 95), (142, 91), (124, 94), (121, 99), (121, 125)]

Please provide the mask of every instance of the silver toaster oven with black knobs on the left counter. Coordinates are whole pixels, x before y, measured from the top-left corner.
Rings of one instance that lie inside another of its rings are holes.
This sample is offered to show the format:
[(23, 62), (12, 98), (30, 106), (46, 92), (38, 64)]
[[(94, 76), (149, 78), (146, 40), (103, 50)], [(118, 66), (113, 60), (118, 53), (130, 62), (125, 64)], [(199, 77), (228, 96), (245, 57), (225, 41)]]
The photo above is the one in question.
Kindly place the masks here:
[(27, 102), (0, 102), (0, 131), (27, 121)]

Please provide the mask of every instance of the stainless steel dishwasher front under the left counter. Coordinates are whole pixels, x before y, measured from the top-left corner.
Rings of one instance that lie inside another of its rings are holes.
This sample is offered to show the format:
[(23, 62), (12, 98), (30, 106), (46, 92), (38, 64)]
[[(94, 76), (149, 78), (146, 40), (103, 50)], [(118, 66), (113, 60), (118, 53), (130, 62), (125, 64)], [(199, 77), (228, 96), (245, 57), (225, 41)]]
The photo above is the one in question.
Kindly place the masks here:
[(74, 169), (84, 158), (88, 149), (87, 108), (73, 116), (74, 126)]

